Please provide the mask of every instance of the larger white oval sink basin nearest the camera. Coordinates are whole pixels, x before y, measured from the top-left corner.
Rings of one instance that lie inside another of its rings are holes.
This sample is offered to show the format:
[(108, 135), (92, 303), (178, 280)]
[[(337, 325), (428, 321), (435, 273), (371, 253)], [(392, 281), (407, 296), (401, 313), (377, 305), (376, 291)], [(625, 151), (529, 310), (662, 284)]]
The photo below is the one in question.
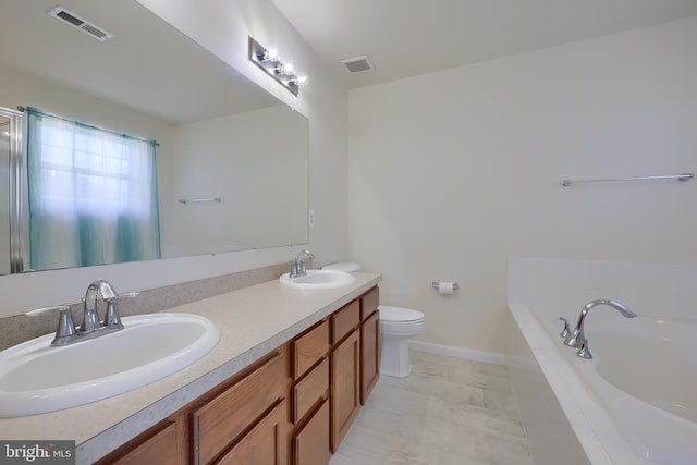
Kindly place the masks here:
[(124, 317), (125, 328), (62, 347), (46, 334), (0, 352), (0, 417), (60, 411), (118, 395), (198, 360), (220, 339), (204, 317)]

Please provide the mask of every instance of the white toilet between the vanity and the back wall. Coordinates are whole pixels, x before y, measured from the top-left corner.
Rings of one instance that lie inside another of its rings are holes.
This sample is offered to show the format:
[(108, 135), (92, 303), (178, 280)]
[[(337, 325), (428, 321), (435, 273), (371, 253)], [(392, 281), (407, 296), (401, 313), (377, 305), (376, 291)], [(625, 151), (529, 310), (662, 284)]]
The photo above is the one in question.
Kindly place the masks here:
[[(338, 262), (322, 267), (325, 270), (354, 272), (360, 265)], [(426, 329), (426, 316), (409, 308), (378, 306), (380, 310), (380, 374), (405, 378), (412, 372), (407, 340)]]

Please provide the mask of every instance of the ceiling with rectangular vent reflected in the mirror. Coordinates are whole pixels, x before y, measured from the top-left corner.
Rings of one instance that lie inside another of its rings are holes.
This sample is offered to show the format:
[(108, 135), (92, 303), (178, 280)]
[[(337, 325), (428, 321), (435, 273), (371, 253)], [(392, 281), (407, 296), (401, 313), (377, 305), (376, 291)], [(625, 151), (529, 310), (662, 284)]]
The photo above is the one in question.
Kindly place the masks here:
[[(0, 70), (19, 70), (172, 124), (280, 103), (136, 1), (60, 4), (113, 37), (99, 41), (48, 15), (57, 0), (5, 1), (0, 42), (8, 46), (0, 47)], [(200, 82), (206, 86), (196, 86)], [(35, 103), (25, 97), (22, 105)]]

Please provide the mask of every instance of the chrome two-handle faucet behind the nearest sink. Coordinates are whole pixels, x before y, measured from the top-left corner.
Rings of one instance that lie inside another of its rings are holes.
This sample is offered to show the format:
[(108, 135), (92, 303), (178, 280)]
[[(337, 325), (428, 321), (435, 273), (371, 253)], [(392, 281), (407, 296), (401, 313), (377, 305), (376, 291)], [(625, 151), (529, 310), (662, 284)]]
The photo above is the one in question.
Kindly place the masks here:
[[(101, 297), (107, 303), (107, 314), (103, 322), (99, 321), (97, 314), (97, 297)], [(134, 297), (137, 292), (127, 292), (125, 294), (117, 294), (113, 286), (105, 280), (97, 280), (89, 284), (85, 298), (83, 298), (83, 321), (80, 328), (75, 329), (70, 307), (66, 305), (57, 305), (52, 307), (38, 308), (27, 311), (28, 316), (36, 316), (47, 311), (58, 310), (60, 313), (56, 338), (51, 342), (52, 346), (61, 346), (72, 344), (74, 342), (87, 339), (98, 338), (123, 329), (121, 317), (117, 309), (117, 299), (122, 297)]]

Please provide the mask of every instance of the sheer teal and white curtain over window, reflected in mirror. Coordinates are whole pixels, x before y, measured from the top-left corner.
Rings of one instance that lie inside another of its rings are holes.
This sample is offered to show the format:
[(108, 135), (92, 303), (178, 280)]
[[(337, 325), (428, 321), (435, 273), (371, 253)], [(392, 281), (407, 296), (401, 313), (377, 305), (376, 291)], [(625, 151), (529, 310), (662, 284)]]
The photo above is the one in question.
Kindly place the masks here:
[(30, 268), (160, 258), (155, 142), (27, 114)]

